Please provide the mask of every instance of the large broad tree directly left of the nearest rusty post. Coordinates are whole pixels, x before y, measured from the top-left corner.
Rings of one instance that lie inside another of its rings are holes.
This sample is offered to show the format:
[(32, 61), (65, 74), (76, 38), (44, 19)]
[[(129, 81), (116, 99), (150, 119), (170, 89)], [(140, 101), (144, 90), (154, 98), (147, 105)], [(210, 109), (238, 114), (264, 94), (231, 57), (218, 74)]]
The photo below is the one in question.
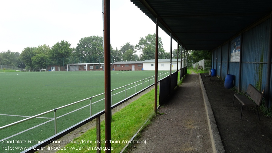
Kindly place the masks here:
[(94, 63), (104, 61), (103, 37), (91, 36), (79, 40), (75, 49), (75, 55), (78, 57), (94, 60)]

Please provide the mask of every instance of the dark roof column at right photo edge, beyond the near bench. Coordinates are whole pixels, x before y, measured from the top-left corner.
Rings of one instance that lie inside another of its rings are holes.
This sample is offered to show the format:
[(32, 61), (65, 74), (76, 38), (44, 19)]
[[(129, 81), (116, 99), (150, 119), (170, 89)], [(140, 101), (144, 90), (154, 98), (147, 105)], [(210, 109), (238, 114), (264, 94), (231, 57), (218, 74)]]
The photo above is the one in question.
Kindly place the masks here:
[(270, 79), (271, 79), (271, 58), (272, 58), (272, 13), (270, 14), (270, 28), (268, 39), (268, 55), (267, 55), (267, 73), (265, 84), (265, 103), (266, 107), (269, 107), (270, 100)]

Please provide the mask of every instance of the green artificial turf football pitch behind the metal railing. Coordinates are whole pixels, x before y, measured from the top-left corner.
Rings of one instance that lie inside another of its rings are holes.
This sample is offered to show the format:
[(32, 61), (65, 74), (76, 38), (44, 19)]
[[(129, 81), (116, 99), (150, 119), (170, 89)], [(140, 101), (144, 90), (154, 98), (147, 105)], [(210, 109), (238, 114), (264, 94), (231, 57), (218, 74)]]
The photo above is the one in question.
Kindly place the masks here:
[[(165, 74), (169, 71), (159, 71), (158, 73), (161, 72), (164, 72)], [(153, 75), (154, 71), (112, 71), (111, 89), (118, 88)], [(164, 75), (164, 77), (167, 75), (169, 75), (169, 73)], [(2, 78), (0, 88), (0, 114), (33, 116), (104, 92), (103, 71), (0, 73), (0, 78)], [(140, 83), (141, 82), (138, 82), (137, 85)], [(152, 83), (153, 80), (150, 81), (150, 84)], [(128, 88), (132, 86), (134, 85), (128, 86)], [(145, 82), (144, 88), (147, 86), (148, 82)], [(140, 91), (142, 88), (142, 85), (138, 85), (136, 90)], [(116, 94), (119, 91), (120, 90), (113, 91), (113, 94)], [(135, 88), (128, 89), (127, 96), (134, 93)], [(93, 98), (92, 103), (102, 98), (104, 98), (104, 95)], [(113, 102), (116, 103), (123, 98), (125, 98), (124, 92), (118, 95), (113, 95)], [(57, 110), (57, 116), (64, 115), (88, 104), (90, 104), (89, 100), (72, 105), (68, 108), (62, 108)], [(104, 101), (102, 100), (92, 105), (92, 114), (103, 109)], [(74, 113), (58, 118), (57, 130), (58, 132), (62, 131), (71, 125), (88, 118), (89, 116), (90, 107), (87, 106), (75, 111)], [(49, 114), (42, 115), (41, 117), (54, 118), (54, 113), (51, 112)], [(4, 126), (24, 118), (25, 117), (1, 115), (0, 126)], [(49, 120), (50, 119), (45, 118), (35, 118), (15, 126), (5, 128), (0, 132), (0, 140)], [(38, 126), (37, 128), (7, 140), (45, 140), (52, 135), (54, 135), (54, 121)], [(31, 146), (34, 144), (27, 145)], [(12, 144), (10, 146), (12, 146)], [(25, 147), (25, 145), (21, 146)]]

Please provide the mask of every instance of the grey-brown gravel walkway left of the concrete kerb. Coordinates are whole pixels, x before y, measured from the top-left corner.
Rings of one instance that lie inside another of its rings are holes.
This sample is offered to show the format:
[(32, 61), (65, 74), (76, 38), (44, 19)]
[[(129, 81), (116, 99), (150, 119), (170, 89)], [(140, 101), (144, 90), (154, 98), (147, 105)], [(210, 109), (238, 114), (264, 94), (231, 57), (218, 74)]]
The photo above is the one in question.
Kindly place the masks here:
[(156, 115), (136, 138), (146, 140), (146, 144), (133, 144), (128, 152), (212, 152), (199, 77), (192, 74), (183, 82), (158, 109), (162, 115)]

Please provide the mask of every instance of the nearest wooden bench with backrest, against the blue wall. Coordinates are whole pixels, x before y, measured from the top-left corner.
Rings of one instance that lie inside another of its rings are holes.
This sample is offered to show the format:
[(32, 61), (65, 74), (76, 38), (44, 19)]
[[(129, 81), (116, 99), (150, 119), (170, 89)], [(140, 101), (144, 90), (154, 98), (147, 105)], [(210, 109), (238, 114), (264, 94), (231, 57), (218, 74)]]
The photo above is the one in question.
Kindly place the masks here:
[[(264, 91), (263, 91), (264, 93)], [(246, 96), (244, 95), (237, 95), (234, 94), (233, 97), (233, 102), (232, 102), (232, 106), (234, 103), (234, 99), (235, 97), (237, 98), (238, 101), (240, 101), (240, 103), (242, 104), (242, 110), (241, 110), (241, 116), (240, 116), (240, 120), (242, 119), (242, 112), (243, 112), (243, 106), (255, 106), (257, 109), (257, 113), (258, 113), (258, 118), (260, 121), (260, 116), (259, 116), (259, 111), (258, 111), (258, 107), (260, 106), (264, 95), (258, 91), (256, 88), (253, 87), (253, 85), (249, 84), (247, 87), (247, 95), (249, 98), (251, 98), (253, 101), (251, 101), (250, 99), (248, 99)]]

